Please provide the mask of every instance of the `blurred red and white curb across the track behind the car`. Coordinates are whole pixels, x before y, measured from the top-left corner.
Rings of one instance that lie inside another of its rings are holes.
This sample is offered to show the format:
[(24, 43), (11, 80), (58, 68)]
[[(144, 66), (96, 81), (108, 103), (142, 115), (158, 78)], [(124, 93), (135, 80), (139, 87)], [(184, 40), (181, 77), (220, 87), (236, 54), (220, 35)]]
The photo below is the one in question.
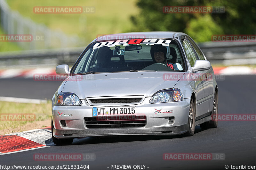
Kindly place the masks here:
[[(247, 66), (213, 67), (216, 75), (252, 75), (256, 74), (256, 68)], [(57, 75), (53, 68), (37, 69), (7, 69), (0, 70), (0, 78), (34, 78), (37, 74)]]

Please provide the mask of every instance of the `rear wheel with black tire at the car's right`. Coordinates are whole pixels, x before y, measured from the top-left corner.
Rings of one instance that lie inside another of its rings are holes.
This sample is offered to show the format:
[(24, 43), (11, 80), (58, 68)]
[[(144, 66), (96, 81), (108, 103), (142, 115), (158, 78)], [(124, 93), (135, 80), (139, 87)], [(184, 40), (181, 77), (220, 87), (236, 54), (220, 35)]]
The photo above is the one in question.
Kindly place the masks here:
[(204, 122), (200, 124), (200, 128), (209, 129), (209, 128), (217, 128), (218, 126), (218, 92), (217, 91), (215, 91), (214, 93), (211, 117), (212, 117), (212, 120), (209, 122)]

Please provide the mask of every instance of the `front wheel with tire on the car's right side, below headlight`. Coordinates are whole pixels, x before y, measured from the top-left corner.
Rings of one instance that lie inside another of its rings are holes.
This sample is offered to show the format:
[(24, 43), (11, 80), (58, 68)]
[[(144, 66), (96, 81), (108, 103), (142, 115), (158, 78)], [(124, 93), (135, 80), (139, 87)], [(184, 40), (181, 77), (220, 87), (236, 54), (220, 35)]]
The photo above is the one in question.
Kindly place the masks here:
[(194, 101), (190, 100), (190, 106), (189, 106), (189, 113), (188, 113), (188, 132), (185, 133), (186, 136), (193, 136), (195, 133), (195, 119), (196, 119), (196, 113), (195, 113), (195, 105)]

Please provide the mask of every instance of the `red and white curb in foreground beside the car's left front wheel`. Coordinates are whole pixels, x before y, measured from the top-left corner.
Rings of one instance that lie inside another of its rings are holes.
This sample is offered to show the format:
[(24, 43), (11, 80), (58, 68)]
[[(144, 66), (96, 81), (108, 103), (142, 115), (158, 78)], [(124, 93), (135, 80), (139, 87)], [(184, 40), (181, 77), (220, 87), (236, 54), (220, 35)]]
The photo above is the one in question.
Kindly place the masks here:
[(51, 127), (0, 135), (0, 155), (53, 145)]

